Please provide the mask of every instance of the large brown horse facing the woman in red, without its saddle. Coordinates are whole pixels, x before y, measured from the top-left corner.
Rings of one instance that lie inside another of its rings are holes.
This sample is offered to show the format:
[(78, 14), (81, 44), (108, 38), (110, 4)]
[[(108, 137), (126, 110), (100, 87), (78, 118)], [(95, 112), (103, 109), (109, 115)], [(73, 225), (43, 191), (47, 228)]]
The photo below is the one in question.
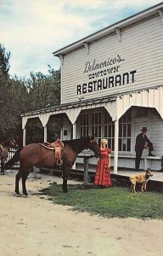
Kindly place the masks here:
[[(63, 174), (63, 191), (67, 190), (67, 179), (69, 177), (70, 169), (73, 166), (77, 154), (81, 153), (83, 149), (90, 148), (96, 157), (99, 155), (98, 143), (94, 137), (82, 137), (80, 139), (74, 139), (70, 141), (64, 141), (64, 148), (62, 149), (63, 164), (60, 166)], [(16, 158), (15, 158), (16, 160)], [(18, 160), (18, 159), (17, 159)], [(20, 194), (19, 182), (20, 177), (22, 179), (23, 194), (27, 195), (25, 188), (25, 181), (30, 172), (33, 170), (33, 166), (57, 167), (57, 159), (54, 156), (53, 150), (42, 147), (41, 144), (32, 143), (26, 145), (20, 151), (20, 171), (16, 174), (15, 178), (15, 192)]]

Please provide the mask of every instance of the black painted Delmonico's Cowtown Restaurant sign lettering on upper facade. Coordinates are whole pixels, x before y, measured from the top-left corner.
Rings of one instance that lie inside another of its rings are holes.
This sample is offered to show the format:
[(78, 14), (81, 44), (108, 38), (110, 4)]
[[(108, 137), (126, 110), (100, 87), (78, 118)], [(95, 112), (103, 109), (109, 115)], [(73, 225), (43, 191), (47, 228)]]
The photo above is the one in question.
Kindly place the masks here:
[(95, 59), (92, 62), (87, 61), (83, 73), (87, 73), (88, 82), (77, 85), (77, 95), (134, 83), (137, 70), (120, 73), (122, 61), (125, 59), (121, 55), (101, 62)]

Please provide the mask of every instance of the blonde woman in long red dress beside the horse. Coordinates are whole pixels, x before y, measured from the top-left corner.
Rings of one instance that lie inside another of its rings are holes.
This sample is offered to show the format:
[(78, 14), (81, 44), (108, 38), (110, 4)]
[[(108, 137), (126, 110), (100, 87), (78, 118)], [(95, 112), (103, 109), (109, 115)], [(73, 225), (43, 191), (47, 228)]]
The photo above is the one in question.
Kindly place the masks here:
[(111, 149), (107, 148), (107, 140), (101, 140), (100, 156), (98, 160), (98, 166), (96, 169), (96, 175), (94, 179), (94, 185), (102, 187), (111, 186), (110, 178), (110, 153)]

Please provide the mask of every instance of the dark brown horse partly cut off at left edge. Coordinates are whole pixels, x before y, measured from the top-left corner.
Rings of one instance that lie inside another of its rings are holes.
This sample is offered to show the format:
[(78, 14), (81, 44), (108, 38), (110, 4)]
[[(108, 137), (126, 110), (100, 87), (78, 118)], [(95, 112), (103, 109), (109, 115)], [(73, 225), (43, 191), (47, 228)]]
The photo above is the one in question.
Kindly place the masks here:
[(0, 144), (0, 159), (1, 159), (1, 174), (4, 174), (4, 163), (8, 158), (8, 151), (10, 148), (17, 148), (18, 145), (14, 137), (4, 141)]

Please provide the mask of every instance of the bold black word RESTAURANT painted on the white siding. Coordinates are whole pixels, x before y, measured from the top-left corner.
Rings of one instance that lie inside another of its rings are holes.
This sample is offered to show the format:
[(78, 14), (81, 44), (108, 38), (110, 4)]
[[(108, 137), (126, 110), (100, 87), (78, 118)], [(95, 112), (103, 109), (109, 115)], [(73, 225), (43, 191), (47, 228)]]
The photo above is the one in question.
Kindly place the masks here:
[(77, 85), (77, 95), (93, 92), (97, 90), (104, 90), (115, 86), (134, 83), (136, 70), (129, 73), (118, 74), (104, 79), (97, 79), (84, 84)]

